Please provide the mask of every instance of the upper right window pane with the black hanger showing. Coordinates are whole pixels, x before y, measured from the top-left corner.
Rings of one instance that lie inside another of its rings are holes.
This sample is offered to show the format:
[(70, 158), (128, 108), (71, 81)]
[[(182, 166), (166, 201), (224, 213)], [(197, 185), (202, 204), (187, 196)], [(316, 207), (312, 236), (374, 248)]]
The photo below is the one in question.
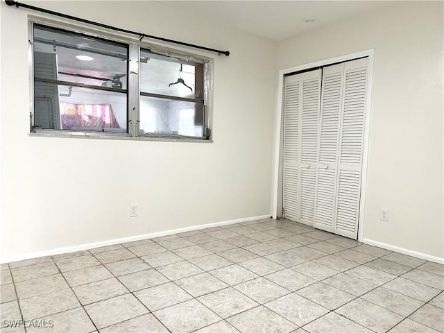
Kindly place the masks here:
[(203, 100), (203, 64), (141, 50), (140, 91)]

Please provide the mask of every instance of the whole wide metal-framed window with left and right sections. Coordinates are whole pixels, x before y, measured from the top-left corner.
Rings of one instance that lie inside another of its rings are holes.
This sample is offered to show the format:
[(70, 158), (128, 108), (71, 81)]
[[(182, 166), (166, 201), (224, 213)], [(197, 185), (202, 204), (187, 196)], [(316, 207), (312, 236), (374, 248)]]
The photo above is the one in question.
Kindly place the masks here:
[(31, 132), (210, 139), (209, 60), (33, 24)]

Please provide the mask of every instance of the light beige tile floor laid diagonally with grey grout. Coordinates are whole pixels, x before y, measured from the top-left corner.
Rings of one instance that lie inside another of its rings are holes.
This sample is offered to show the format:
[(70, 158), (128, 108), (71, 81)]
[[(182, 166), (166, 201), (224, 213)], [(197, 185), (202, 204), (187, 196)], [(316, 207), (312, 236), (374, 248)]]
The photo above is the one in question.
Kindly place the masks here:
[(444, 331), (443, 265), (288, 220), (0, 267), (0, 333)]

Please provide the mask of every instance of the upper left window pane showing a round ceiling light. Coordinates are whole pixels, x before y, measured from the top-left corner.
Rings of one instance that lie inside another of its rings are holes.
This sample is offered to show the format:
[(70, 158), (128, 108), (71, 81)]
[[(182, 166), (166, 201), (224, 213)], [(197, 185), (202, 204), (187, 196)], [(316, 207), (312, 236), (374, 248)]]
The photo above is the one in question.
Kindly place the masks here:
[(128, 48), (35, 25), (35, 78), (126, 89)]

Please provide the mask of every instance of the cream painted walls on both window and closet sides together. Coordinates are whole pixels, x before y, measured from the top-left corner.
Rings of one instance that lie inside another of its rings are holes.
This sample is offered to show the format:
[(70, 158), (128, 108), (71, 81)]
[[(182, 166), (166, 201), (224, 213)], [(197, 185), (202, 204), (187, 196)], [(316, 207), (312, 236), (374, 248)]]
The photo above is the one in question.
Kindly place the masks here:
[(373, 48), (364, 238), (444, 257), (442, 2), (398, 2), (280, 44), (161, 2), (33, 5), (232, 55), (214, 55), (213, 144), (30, 137), (27, 14), (1, 1), (0, 260), (270, 214), (277, 69)]

